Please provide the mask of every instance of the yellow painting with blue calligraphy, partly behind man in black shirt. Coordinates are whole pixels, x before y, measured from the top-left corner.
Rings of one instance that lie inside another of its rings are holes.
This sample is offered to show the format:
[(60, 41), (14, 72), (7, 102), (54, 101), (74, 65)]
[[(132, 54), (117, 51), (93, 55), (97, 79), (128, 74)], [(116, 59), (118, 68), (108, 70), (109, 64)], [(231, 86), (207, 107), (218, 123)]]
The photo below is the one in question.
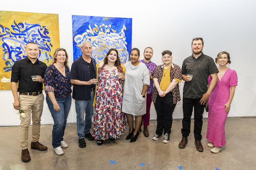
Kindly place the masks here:
[(0, 10), (0, 90), (11, 90), (11, 67), (26, 58), (25, 46), (37, 43), (47, 65), (59, 48), (59, 15)]

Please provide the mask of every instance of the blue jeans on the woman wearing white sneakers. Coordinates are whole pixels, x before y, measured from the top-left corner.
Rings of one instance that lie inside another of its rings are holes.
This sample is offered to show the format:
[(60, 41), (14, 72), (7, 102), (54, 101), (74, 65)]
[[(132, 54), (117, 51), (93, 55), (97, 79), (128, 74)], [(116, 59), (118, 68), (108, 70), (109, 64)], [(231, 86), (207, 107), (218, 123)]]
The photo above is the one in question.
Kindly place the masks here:
[(48, 108), (52, 114), (54, 125), (53, 125), (53, 148), (57, 148), (60, 146), (60, 142), (63, 140), (64, 130), (67, 124), (67, 118), (69, 115), (69, 110), (71, 106), (71, 95), (66, 98), (56, 98), (57, 103), (59, 104), (60, 111), (56, 112), (53, 109), (53, 103), (50, 98), (46, 96), (46, 102), (48, 104)]

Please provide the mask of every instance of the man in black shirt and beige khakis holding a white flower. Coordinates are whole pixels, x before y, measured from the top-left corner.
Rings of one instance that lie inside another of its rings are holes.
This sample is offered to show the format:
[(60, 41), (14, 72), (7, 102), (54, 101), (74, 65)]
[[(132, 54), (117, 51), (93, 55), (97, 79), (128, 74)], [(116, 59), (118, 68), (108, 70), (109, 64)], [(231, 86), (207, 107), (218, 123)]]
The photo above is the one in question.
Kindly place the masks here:
[[(21, 160), (30, 161), (28, 152), (28, 127), (32, 114), (31, 149), (46, 150), (47, 147), (38, 142), (40, 137), (40, 121), (43, 112), (43, 77), (46, 64), (40, 62), (39, 48), (36, 43), (26, 45), (27, 58), (16, 61), (11, 69), (11, 91), (14, 98), (13, 108), (23, 110), (26, 117), (20, 116)], [(31, 76), (37, 76), (32, 80)], [(17, 83), (19, 82), (19, 88)], [(19, 96), (18, 93), (19, 92)]]

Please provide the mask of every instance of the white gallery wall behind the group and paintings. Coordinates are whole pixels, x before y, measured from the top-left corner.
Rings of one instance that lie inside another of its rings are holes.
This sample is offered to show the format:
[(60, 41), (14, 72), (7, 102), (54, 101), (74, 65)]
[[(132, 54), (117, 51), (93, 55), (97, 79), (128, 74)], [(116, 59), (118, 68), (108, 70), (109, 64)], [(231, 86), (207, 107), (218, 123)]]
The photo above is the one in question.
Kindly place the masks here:
[[(203, 52), (215, 58), (221, 51), (231, 57), (231, 69), (238, 74), (238, 86), (229, 117), (256, 116), (256, 1), (254, 0), (11, 0), (1, 1), (0, 10), (59, 14), (60, 47), (73, 62), (72, 15), (124, 17), (133, 19), (132, 47), (154, 50), (152, 61), (161, 64), (161, 52), (171, 50), (173, 62), (182, 65), (191, 55), (193, 37), (203, 37)], [(1, 19), (0, 19), (1, 20)], [(53, 49), (55, 50), (55, 49)], [(181, 98), (184, 82), (180, 83)], [(0, 91), (0, 126), (18, 125), (12, 107), (11, 90)], [(182, 118), (182, 101), (173, 118)], [(208, 117), (208, 113), (204, 113)], [(151, 105), (151, 119), (156, 119)], [(68, 117), (76, 122), (75, 101)], [(42, 124), (53, 119), (44, 101)]]

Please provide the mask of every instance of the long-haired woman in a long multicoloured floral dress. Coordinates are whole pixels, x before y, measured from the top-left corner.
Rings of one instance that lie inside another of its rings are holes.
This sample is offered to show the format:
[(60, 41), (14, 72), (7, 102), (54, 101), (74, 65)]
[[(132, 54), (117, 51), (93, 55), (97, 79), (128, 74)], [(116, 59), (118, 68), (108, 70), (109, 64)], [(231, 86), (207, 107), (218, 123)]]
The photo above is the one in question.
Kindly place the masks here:
[(104, 62), (97, 66), (95, 113), (92, 136), (101, 145), (107, 139), (118, 139), (125, 131), (123, 100), (124, 67), (116, 49), (107, 52)]

